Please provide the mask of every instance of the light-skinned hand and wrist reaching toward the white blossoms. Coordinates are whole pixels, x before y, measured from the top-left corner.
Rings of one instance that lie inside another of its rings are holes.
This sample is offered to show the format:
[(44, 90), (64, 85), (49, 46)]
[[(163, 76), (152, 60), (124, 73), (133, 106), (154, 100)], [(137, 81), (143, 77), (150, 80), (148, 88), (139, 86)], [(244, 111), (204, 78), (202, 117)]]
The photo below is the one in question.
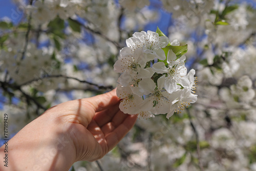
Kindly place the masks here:
[(53, 106), (8, 141), (8, 167), (0, 170), (68, 170), (76, 161), (102, 158), (132, 129), (136, 115), (119, 110), (116, 90)]

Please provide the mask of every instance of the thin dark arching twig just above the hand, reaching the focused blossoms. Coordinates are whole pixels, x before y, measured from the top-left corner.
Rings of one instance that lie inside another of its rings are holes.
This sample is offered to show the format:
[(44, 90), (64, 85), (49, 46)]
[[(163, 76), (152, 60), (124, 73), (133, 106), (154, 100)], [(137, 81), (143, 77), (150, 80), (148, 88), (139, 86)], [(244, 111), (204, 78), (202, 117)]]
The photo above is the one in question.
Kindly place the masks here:
[(45, 78), (58, 78), (58, 77), (63, 77), (63, 78), (66, 78), (66, 79), (74, 79), (74, 80), (77, 80), (77, 81), (79, 81), (81, 83), (87, 83), (87, 84), (89, 84), (91, 86), (95, 86), (98, 89), (105, 89), (105, 90), (112, 90), (112, 89), (114, 89), (113, 86), (99, 86), (98, 84), (95, 84), (95, 83), (92, 83), (92, 82), (89, 82), (89, 81), (86, 81), (86, 80), (80, 80), (80, 79), (75, 78), (75, 77), (70, 77), (70, 76), (61, 75), (61, 74), (59, 74), (59, 75), (47, 75), (47, 76), (42, 77), (42, 78), (35, 78), (33, 80), (30, 80), (30, 81), (27, 81), (27, 82), (25, 82), (23, 84), (20, 84), (19, 86), (22, 87), (22, 86), (30, 84), (30, 83), (32, 83), (34, 81), (42, 80), (42, 79), (45, 79)]

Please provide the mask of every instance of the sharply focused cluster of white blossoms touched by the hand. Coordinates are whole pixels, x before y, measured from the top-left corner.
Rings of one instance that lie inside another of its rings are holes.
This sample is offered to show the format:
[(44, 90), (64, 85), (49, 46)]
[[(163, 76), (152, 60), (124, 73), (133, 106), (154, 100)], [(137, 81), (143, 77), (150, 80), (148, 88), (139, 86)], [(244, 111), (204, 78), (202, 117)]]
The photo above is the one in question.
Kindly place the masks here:
[(180, 113), (197, 100), (195, 70), (187, 74), (185, 56), (177, 57), (177, 40), (169, 43), (166, 36), (152, 31), (135, 32), (120, 51), (114, 71), (118, 78), (119, 108), (143, 118)]

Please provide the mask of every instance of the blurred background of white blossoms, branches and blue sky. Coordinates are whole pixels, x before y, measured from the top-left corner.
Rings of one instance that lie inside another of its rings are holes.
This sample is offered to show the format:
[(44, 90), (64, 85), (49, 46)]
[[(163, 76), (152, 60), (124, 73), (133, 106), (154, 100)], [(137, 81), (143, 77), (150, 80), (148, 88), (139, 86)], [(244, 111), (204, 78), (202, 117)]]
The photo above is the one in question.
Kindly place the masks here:
[(138, 119), (70, 170), (256, 170), (255, 0), (0, 0), (0, 132), (5, 113), (11, 138), (50, 106), (115, 88), (125, 40), (157, 27), (188, 45), (197, 102)]

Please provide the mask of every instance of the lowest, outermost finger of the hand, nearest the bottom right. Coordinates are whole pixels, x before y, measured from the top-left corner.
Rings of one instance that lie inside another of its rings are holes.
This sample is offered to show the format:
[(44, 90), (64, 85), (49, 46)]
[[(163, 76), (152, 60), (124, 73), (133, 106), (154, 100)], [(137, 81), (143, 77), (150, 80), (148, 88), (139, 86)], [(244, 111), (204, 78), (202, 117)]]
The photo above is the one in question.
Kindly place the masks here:
[(137, 115), (128, 115), (116, 129), (106, 135), (105, 139), (109, 147), (109, 151), (113, 149), (117, 143), (132, 129), (137, 119)]

